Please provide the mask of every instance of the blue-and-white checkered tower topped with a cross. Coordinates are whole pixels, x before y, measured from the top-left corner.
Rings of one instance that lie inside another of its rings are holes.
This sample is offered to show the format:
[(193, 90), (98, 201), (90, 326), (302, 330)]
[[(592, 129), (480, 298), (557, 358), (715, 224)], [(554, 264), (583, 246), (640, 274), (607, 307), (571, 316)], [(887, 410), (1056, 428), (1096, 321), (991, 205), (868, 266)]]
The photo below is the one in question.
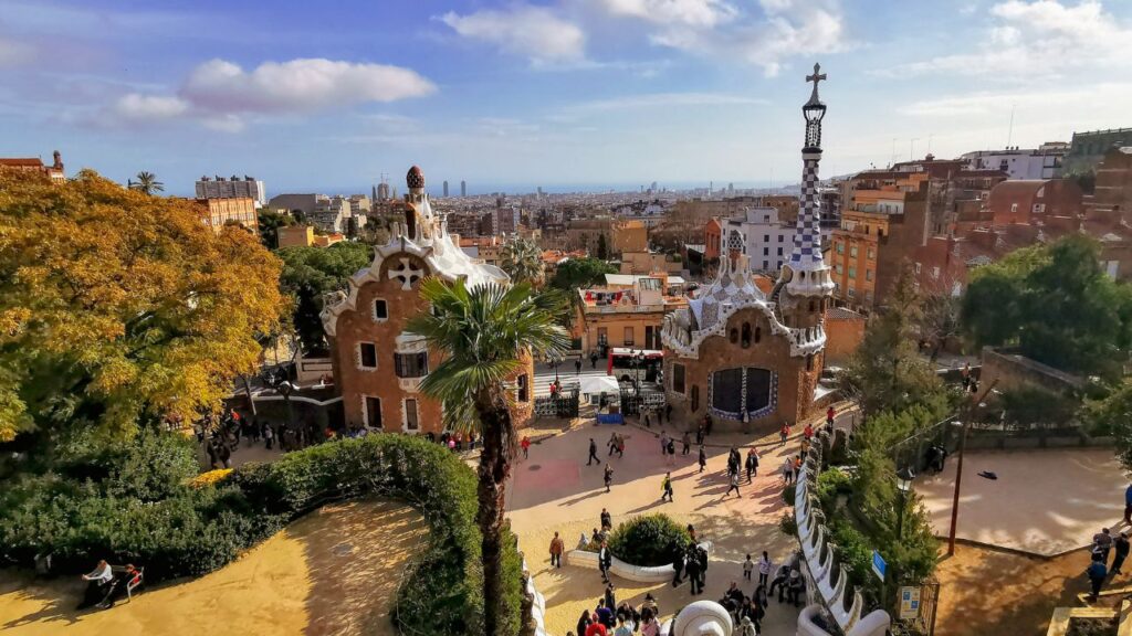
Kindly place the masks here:
[(821, 200), (817, 196), (817, 164), (822, 161), (822, 118), (825, 104), (817, 98), (817, 83), (825, 79), (821, 65), (814, 65), (814, 75), (806, 81), (814, 83), (809, 101), (801, 106), (806, 118), (806, 145), (801, 148), (801, 205), (794, 233), (794, 251), (790, 253), (788, 294), (794, 296), (829, 296), (833, 293), (830, 267), (822, 258)]

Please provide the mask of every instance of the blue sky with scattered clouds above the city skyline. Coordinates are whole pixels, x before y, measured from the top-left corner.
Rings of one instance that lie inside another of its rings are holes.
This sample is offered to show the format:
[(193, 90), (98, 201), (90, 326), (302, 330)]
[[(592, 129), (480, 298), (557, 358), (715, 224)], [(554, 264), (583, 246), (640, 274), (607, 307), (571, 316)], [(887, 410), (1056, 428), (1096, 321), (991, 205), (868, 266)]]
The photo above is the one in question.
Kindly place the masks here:
[(796, 183), (815, 62), (831, 175), (1132, 126), (1129, 42), (1130, 0), (0, 0), (0, 156), (174, 195)]

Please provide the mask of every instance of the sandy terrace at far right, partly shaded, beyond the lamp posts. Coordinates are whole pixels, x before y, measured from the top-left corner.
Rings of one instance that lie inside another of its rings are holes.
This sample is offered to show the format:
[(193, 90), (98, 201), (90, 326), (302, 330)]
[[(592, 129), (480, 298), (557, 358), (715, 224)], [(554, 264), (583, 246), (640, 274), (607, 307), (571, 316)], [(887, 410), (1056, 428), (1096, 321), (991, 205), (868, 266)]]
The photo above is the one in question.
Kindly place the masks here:
[[(916, 482), (943, 536), (951, 527), (957, 464), (949, 458), (943, 473)], [(981, 478), (981, 471), (998, 479)], [(1127, 530), (1126, 487), (1110, 449), (971, 452), (963, 461), (958, 535), (1047, 557), (1075, 550), (1101, 527)]]

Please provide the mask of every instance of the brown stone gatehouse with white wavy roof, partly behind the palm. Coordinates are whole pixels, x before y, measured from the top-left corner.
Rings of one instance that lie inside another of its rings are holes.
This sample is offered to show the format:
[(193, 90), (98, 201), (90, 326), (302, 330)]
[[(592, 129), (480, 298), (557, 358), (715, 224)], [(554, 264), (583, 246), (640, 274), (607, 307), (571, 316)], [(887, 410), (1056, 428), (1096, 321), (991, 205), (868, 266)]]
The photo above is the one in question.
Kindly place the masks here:
[[(428, 310), (420, 283), (429, 276), (462, 277), (470, 287), (511, 281), (501, 269), (469, 257), (453, 241), (444, 217), (432, 213), (419, 167), (409, 171), (408, 182), (403, 217), (394, 224), (389, 242), (376, 249), (369, 267), (350, 278), (348, 292), (327, 302), (323, 326), (348, 427), (439, 433), (445, 426), (441, 405), (426, 397), (420, 385), (443, 361), (444, 352), (405, 330), (411, 317)], [(531, 419), (533, 379), (528, 356), (511, 378), (516, 427)]]

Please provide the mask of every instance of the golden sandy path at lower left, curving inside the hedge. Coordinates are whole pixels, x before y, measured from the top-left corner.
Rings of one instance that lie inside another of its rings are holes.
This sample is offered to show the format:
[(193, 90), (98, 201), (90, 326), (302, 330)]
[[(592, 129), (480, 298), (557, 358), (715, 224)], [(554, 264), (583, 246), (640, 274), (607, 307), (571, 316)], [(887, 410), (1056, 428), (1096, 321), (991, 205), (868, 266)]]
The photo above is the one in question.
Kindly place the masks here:
[(75, 612), (77, 577), (0, 573), (0, 631), (51, 634), (394, 634), (401, 569), (424, 540), (400, 502), (353, 501), (311, 513), (228, 567), (144, 588), (129, 603)]

